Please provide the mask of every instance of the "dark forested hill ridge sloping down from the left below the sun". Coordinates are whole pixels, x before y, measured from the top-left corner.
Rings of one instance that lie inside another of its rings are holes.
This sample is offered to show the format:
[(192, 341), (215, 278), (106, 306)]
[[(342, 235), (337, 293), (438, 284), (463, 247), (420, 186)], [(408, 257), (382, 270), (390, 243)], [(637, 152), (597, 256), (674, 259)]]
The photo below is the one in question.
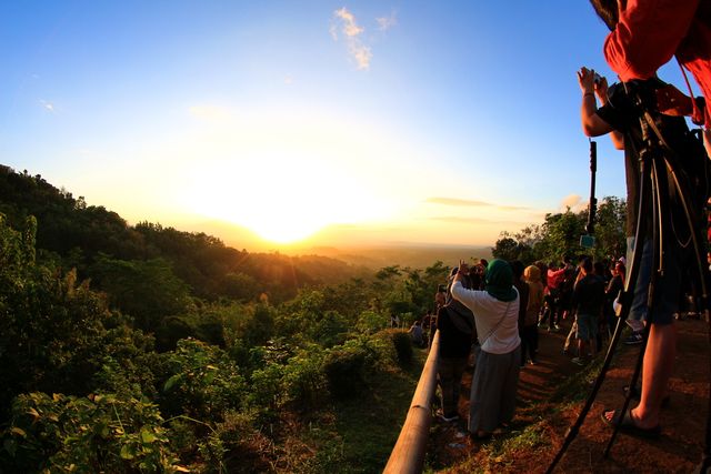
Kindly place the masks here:
[(174, 275), (189, 293), (206, 300), (250, 301), (266, 293), (283, 301), (299, 288), (341, 283), (364, 272), (324, 256), (239, 251), (214, 236), (158, 223), (131, 226), (116, 212), (88, 205), (82, 196), (73, 198), (39, 174), (17, 173), (4, 165), (0, 165), (0, 212), (14, 229), (34, 215), (37, 248), (56, 254), (64, 268), (76, 268), (80, 279), (91, 278), (102, 289), (119, 261), (144, 279), (150, 280), (150, 273)]

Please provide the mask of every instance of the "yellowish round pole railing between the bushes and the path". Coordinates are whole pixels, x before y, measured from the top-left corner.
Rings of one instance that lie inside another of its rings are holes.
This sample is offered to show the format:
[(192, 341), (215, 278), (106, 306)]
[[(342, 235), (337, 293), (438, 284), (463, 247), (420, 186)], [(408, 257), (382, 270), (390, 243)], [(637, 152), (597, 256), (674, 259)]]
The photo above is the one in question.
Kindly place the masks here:
[(421, 473), (424, 465), (424, 452), (430, 434), (432, 421), (432, 396), (437, 387), (437, 364), (440, 349), (440, 333), (434, 333), (430, 353), (422, 369), (418, 387), (414, 391), (412, 403), (404, 425), (398, 436), (395, 447), (390, 453), (390, 458), (383, 471), (387, 474), (414, 474)]

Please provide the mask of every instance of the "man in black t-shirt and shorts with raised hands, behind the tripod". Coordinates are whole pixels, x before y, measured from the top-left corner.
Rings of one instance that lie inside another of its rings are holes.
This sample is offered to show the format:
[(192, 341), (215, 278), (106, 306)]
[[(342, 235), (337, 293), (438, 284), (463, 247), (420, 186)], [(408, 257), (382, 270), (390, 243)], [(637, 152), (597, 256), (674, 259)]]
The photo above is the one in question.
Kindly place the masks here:
[[(657, 103), (658, 92), (662, 92), (667, 84), (659, 79), (651, 79), (641, 85), (638, 90), (625, 89), (624, 84), (610, 88), (608, 91), (607, 82), (601, 79), (595, 84), (594, 71), (582, 68), (578, 72), (580, 89), (583, 93), (581, 105), (581, 120), (583, 131), (588, 137), (599, 137), (610, 133), (612, 141), (618, 149), (625, 151), (625, 172), (628, 184), (628, 236), (634, 235), (637, 230), (637, 211), (640, 200), (639, 191), (641, 185), (639, 182), (640, 172), (638, 162), (640, 153), (644, 150), (642, 140), (642, 128), (640, 124), (641, 111), (637, 107), (638, 94), (645, 95), (644, 104)], [(600, 99), (602, 107), (598, 109), (595, 93)], [(655, 124), (664, 134), (669, 147), (677, 152), (682, 163), (677, 163), (680, 180), (689, 183), (690, 177), (693, 179), (694, 169), (700, 167), (703, 169), (705, 162), (698, 161), (699, 154), (692, 150), (694, 145), (693, 139), (689, 137), (685, 120), (681, 117), (662, 115), (658, 111), (652, 111)], [(668, 153), (668, 158), (671, 158)], [(697, 161), (694, 161), (697, 160)], [(671, 223), (682, 222), (681, 206), (678, 196), (670, 190), (671, 182), (667, 173), (664, 163), (657, 163), (657, 183), (662, 201), (669, 208), (667, 213), (660, 213), (660, 218), (665, 220), (664, 225), (670, 229)], [(645, 182), (644, 186), (650, 184)], [(683, 229), (687, 225), (674, 228), (674, 232), (670, 232), (663, 240), (664, 242), (664, 272), (659, 275), (653, 295), (653, 306), (649, 309), (649, 314), (644, 313), (645, 297), (649, 283), (652, 275), (653, 242), (652, 242), (652, 200), (648, 200), (648, 205), (642, 209), (642, 222), (645, 222), (643, 229), (640, 230), (641, 242), (630, 242), (632, 245), (639, 245), (642, 251), (640, 271), (634, 286), (634, 301), (632, 303), (631, 317), (645, 317), (650, 323), (650, 335), (644, 353), (644, 363), (642, 369), (642, 394), (640, 404), (630, 410), (628, 413), (619, 413), (615, 411), (605, 411), (602, 416), (607, 423), (617, 422), (621, 418), (620, 428), (631, 434), (657, 437), (661, 432), (659, 424), (659, 415), (661, 411), (662, 400), (667, 395), (668, 382), (673, 369), (674, 355), (677, 350), (677, 329), (674, 325), (673, 313), (678, 311), (682, 248), (679, 244), (680, 239), (689, 236), (689, 230)], [(698, 202), (694, 201), (694, 205)], [(692, 212), (698, 211), (693, 209)], [(695, 225), (695, 224), (694, 224)], [(680, 234), (679, 232), (685, 232)], [(673, 235), (672, 235), (673, 234)], [(628, 240), (629, 241), (629, 240)]]

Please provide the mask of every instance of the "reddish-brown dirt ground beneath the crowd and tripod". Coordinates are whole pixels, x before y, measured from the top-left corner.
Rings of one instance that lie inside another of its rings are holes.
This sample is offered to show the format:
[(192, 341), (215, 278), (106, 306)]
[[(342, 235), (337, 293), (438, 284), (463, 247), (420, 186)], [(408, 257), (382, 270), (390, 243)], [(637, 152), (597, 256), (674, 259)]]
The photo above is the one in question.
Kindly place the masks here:
[[(620, 433), (609, 456), (603, 456), (612, 430), (601, 421), (600, 414), (604, 409), (620, 409), (624, 403), (623, 387), (629, 384), (640, 350), (639, 345), (625, 346), (620, 343), (618, 356), (590, 413), (554, 472), (690, 473), (694, 470), (701, 460), (709, 412), (709, 323), (703, 320), (683, 319), (678, 321), (677, 325), (679, 341), (674, 374), (670, 383), (671, 400), (662, 412), (660, 438), (643, 440)], [(520, 431), (534, 422), (542, 422), (542, 436), (547, 440), (542, 445), (521, 447), (512, 456), (499, 460), (500, 463), (493, 472), (545, 472), (560, 450), (568, 428), (580, 413), (584, 402), (561, 411), (557, 410), (561, 402), (549, 401), (553, 390), (564, 377), (583, 370), (562, 352), (569, 327), (570, 321), (564, 321), (563, 329), (558, 333), (539, 330), (539, 363), (527, 365), (521, 371), (519, 382), (519, 405), (522, 410), (517, 413), (512, 430)], [(591, 375), (591, 379), (594, 376)], [(462, 421), (434, 422), (431, 431), (428, 464), (438, 472), (478, 471), (472, 466), (482, 465), (477, 461), (489, 455), (490, 446), (487, 443), (474, 442), (464, 434), (471, 372), (465, 374), (462, 384), (464, 386), (459, 406)], [(630, 406), (634, 404), (632, 401)], [(531, 406), (543, 410), (525, 409)], [(465, 463), (465, 468), (462, 463)]]

